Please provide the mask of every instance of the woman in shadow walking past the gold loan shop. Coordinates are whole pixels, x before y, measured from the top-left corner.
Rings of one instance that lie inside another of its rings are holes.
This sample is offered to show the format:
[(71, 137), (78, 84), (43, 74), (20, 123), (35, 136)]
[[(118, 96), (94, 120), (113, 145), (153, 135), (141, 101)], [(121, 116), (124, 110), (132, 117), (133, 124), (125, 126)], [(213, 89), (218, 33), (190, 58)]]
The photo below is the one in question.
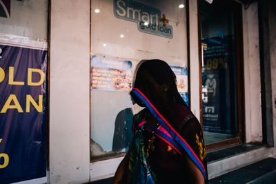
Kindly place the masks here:
[(201, 126), (179, 95), (170, 66), (143, 61), (130, 95), (146, 108), (134, 117), (130, 150), (113, 183), (208, 183)]

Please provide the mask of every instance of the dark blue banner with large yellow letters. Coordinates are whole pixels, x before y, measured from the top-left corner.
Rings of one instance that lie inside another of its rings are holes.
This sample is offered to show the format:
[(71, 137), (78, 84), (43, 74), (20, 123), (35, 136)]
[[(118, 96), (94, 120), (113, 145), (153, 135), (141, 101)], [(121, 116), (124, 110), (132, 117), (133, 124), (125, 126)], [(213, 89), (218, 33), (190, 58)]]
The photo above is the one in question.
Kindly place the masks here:
[(46, 65), (46, 48), (0, 39), (0, 183), (46, 176)]

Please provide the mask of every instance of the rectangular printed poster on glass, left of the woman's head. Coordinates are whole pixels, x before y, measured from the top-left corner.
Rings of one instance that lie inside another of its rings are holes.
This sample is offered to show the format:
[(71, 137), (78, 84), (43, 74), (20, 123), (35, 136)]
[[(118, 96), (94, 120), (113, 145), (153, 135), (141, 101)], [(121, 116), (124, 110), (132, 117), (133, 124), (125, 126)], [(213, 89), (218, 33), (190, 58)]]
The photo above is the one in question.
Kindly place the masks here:
[(91, 66), (91, 90), (131, 90), (131, 61), (92, 56)]

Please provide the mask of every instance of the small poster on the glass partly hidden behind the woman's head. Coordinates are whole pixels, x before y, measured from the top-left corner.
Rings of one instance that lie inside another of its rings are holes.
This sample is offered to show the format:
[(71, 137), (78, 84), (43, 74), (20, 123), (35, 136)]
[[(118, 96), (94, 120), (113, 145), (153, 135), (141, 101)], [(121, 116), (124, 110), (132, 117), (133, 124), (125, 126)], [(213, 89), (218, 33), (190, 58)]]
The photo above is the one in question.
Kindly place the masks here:
[(179, 66), (170, 66), (177, 77), (177, 90), (184, 99), (185, 103), (189, 105), (188, 99), (188, 69)]

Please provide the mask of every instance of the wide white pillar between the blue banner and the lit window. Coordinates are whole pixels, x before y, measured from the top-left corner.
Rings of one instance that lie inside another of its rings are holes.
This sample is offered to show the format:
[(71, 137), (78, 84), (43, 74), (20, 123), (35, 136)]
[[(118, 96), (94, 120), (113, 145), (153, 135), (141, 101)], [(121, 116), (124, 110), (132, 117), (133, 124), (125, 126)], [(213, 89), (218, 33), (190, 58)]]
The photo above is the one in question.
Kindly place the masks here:
[(50, 29), (50, 183), (90, 176), (90, 1), (52, 0)]

